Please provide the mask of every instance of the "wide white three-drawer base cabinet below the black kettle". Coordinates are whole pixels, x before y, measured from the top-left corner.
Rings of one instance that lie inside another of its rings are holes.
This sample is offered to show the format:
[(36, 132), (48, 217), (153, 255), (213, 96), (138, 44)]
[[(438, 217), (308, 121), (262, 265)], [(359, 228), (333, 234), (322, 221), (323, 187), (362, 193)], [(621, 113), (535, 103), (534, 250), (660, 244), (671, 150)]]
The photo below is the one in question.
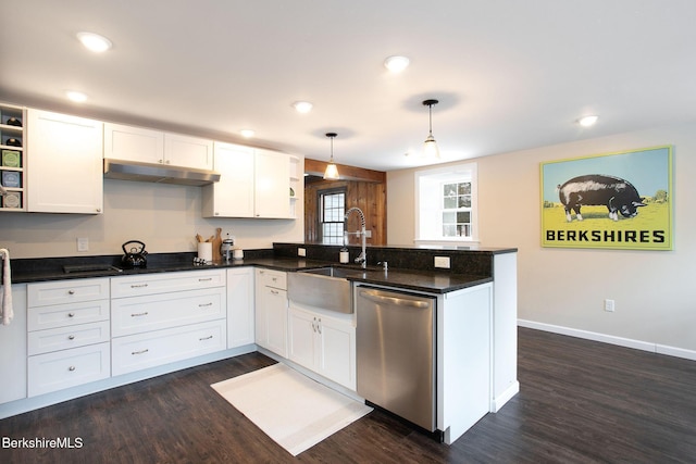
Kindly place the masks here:
[(111, 293), (114, 376), (226, 349), (223, 269), (114, 277)]

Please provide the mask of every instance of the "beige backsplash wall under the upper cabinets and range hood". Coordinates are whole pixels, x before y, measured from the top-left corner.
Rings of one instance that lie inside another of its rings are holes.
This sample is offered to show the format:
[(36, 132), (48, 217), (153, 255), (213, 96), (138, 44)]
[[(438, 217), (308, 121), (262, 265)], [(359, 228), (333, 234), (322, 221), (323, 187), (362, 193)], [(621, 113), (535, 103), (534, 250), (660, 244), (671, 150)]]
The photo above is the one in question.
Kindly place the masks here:
[[(195, 251), (196, 234), (208, 238), (222, 227), (241, 248), (270, 248), (303, 240), (303, 202), (297, 208), (297, 221), (204, 220), (200, 187), (104, 179), (103, 214), (0, 213), (0, 247), (13, 259), (122, 254), (133, 239), (151, 253)], [(77, 237), (89, 239), (88, 252), (77, 252)]]

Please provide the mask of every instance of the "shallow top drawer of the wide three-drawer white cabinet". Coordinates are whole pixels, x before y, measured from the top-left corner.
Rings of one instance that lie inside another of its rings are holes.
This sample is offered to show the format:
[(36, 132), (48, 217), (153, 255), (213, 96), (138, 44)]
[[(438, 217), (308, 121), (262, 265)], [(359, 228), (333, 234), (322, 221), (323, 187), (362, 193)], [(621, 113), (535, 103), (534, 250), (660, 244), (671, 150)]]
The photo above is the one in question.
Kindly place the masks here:
[(111, 279), (111, 298), (137, 297), (140, 294), (157, 294), (170, 291), (224, 286), (225, 272), (223, 269), (185, 271), (181, 273), (113, 277)]

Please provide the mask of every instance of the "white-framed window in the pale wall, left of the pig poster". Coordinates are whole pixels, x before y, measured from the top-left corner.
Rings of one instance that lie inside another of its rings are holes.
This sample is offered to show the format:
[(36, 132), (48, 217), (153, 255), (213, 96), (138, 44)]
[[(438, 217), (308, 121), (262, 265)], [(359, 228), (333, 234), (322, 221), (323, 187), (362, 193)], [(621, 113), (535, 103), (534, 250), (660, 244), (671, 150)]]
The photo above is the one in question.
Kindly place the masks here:
[(476, 164), (415, 173), (415, 241), (475, 241)]

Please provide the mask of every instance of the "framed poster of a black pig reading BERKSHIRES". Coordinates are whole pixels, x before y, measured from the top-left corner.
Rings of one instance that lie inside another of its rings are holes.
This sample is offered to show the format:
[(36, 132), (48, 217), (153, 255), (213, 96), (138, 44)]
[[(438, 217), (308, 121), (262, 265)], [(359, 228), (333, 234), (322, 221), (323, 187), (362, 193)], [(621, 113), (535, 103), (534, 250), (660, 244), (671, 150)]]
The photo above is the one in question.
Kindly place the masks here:
[(672, 249), (672, 147), (542, 163), (542, 246)]

